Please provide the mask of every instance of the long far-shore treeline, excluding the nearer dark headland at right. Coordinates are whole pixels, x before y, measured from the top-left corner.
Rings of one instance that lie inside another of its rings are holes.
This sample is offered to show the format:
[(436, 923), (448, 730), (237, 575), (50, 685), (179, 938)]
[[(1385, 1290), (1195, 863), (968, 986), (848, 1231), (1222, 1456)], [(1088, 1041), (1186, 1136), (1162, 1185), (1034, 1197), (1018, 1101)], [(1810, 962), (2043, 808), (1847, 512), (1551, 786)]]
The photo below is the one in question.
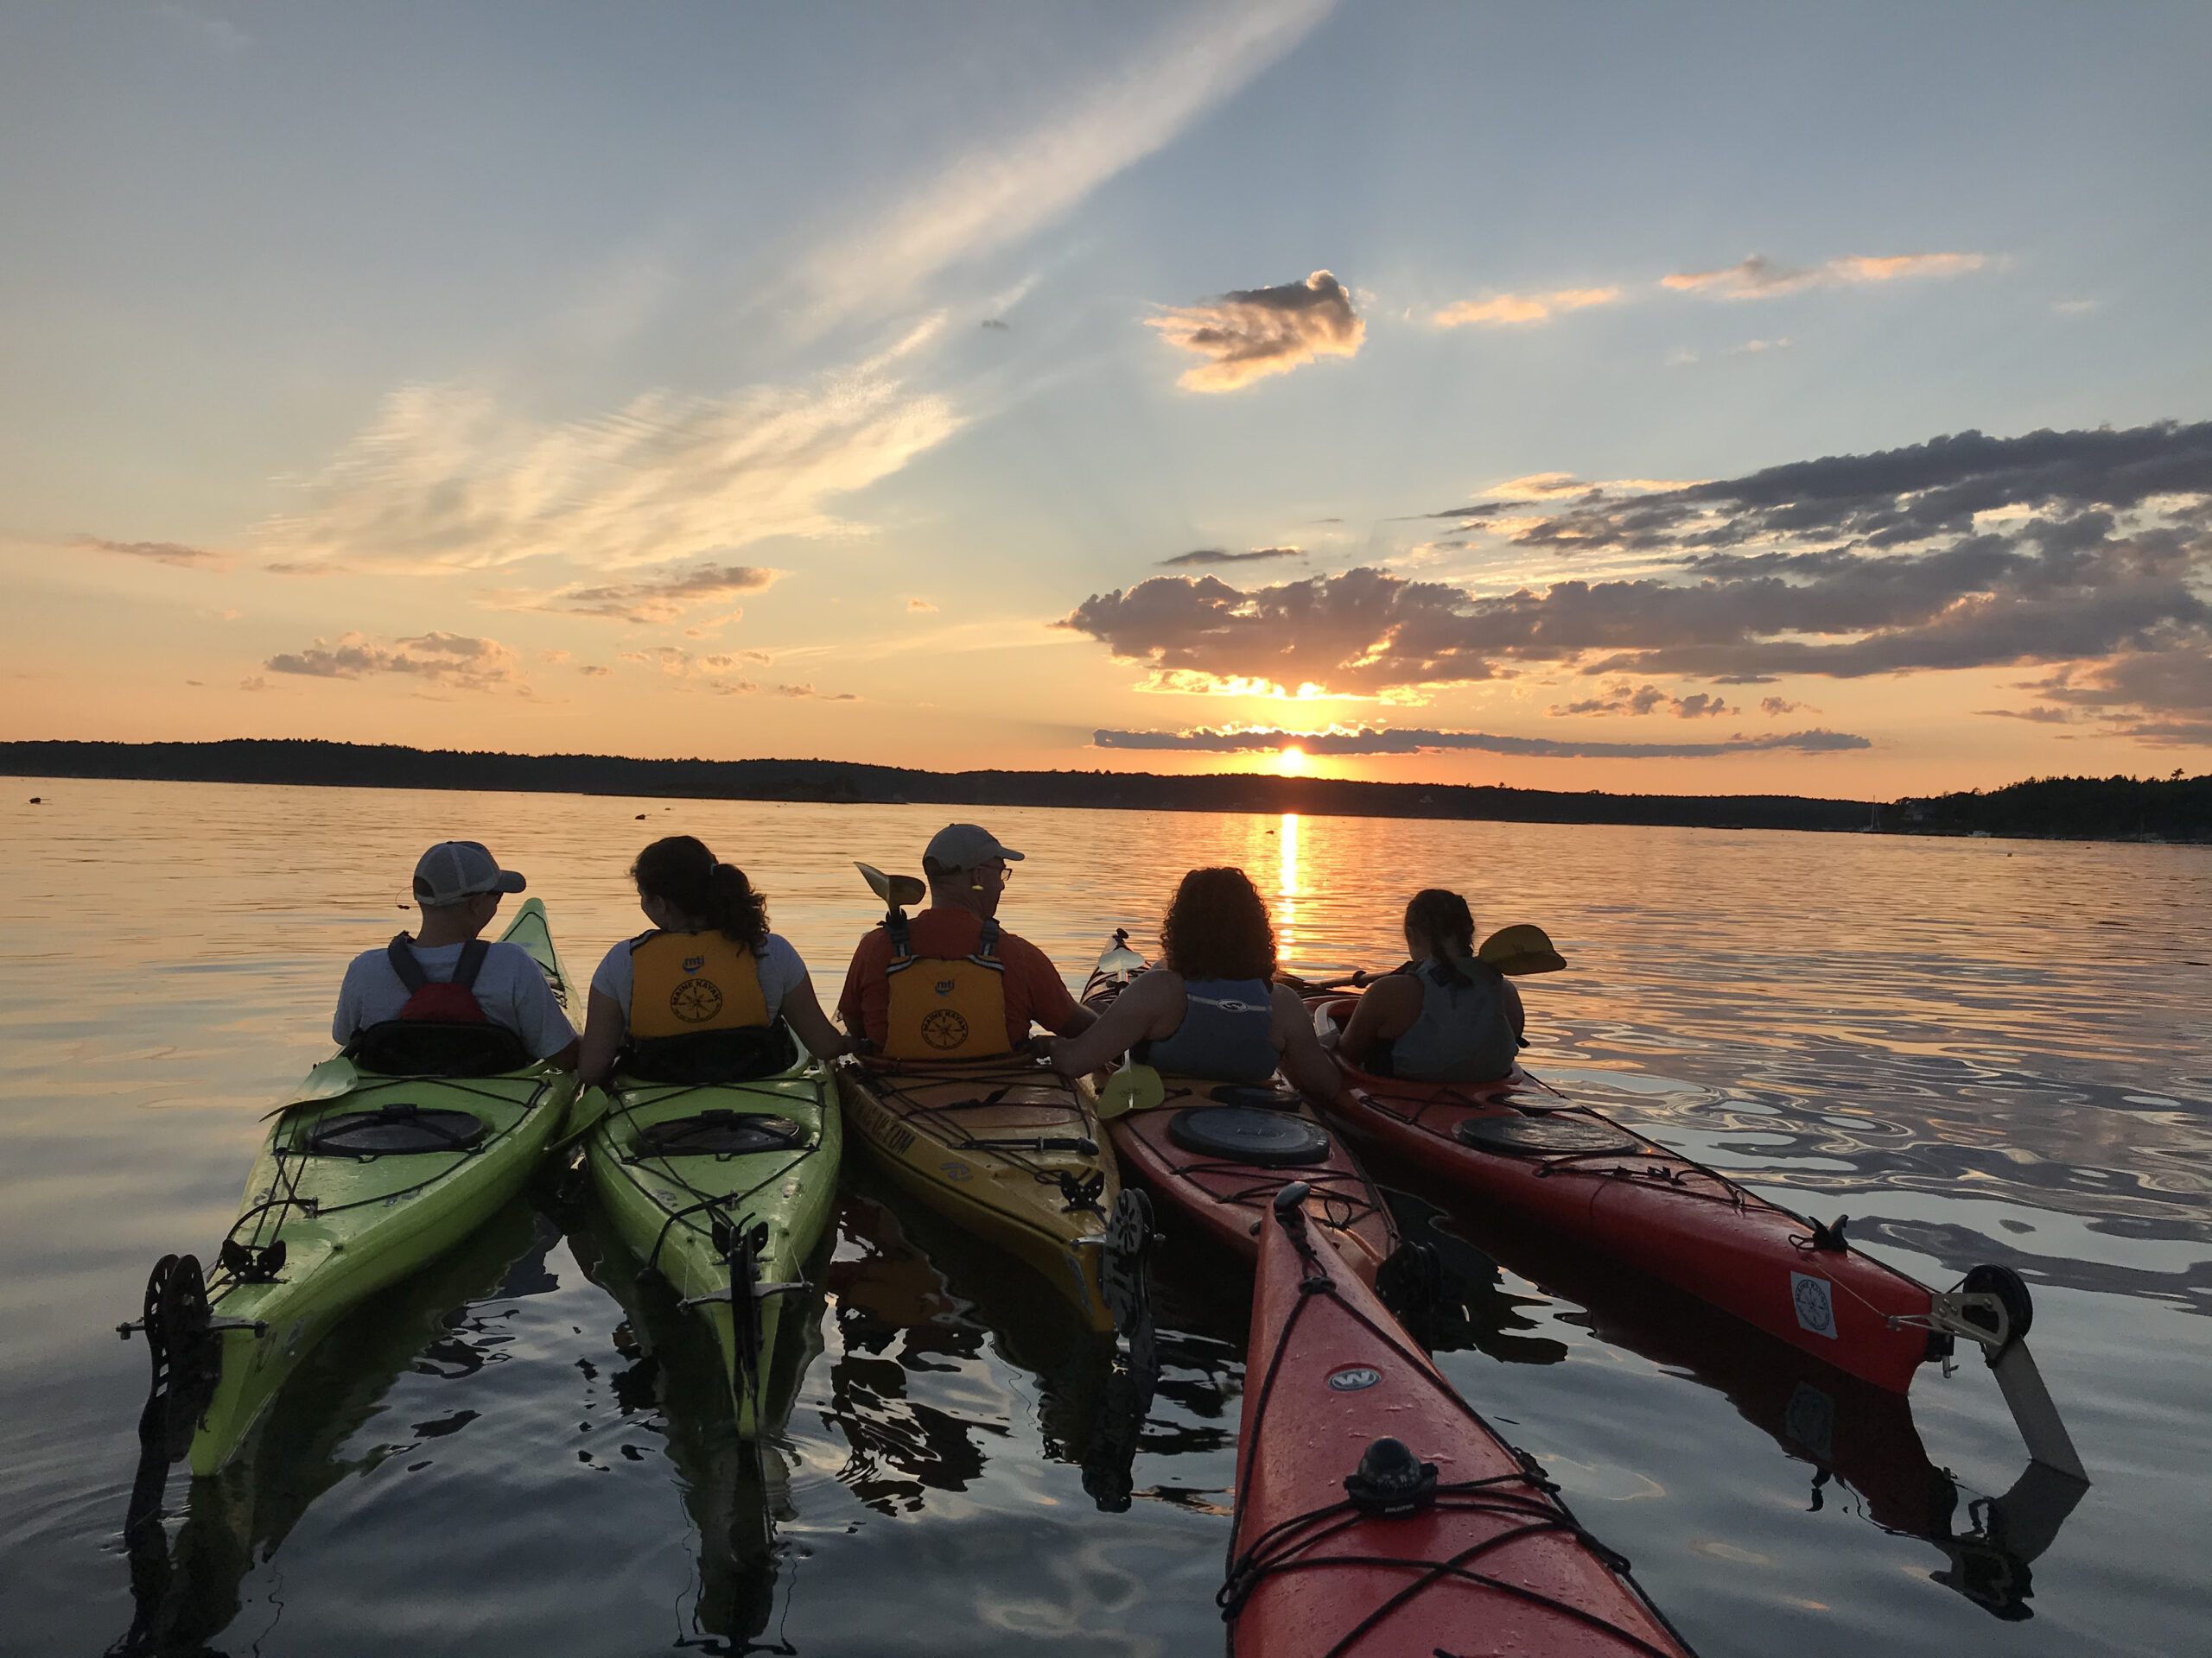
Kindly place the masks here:
[(1449, 783), (1254, 774), (909, 772), (849, 760), (626, 760), (611, 754), (458, 754), (239, 738), (230, 743), (0, 743), (0, 772), (42, 778), (283, 783), (354, 789), (518, 789), (838, 805), (1301, 811), (1336, 818), (1482, 818), (1703, 829), (1865, 829), (1867, 800), (1790, 794), (1555, 794)]

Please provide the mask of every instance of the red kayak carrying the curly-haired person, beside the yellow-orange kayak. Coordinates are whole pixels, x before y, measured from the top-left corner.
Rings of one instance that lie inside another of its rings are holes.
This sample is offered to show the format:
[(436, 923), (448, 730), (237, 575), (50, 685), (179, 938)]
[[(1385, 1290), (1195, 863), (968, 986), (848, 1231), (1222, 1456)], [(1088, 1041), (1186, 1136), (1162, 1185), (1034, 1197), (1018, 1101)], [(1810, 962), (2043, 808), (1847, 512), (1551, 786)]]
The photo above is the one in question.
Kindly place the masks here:
[[(1128, 935), (1099, 955), (1084, 1006), (1102, 1012), (1144, 973)], [(1369, 1287), (1398, 1227), (1352, 1150), (1329, 1134), (1287, 1083), (1248, 1088), (1161, 1072), (1161, 1101), (1106, 1123), (1124, 1176), (1245, 1260), (1259, 1258), (1259, 1222), (1290, 1180), (1305, 1209)]]

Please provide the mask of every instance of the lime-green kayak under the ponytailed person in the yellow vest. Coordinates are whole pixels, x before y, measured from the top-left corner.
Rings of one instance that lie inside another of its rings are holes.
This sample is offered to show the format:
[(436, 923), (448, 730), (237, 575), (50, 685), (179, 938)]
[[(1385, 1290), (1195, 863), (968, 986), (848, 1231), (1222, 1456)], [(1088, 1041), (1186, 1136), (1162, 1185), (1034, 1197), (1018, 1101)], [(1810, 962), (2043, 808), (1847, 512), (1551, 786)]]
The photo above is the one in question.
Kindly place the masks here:
[(803, 1304), (810, 1289), (805, 1262), (836, 1207), (845, 1147), (827, 1068), (796, 1041), (774, 1059), (750, 1081), (617, 1072), (584, 1143), (615, 1231), (714, 1333), (743, 1437), (774, 1426), (763, 1379), (785, 1300)]

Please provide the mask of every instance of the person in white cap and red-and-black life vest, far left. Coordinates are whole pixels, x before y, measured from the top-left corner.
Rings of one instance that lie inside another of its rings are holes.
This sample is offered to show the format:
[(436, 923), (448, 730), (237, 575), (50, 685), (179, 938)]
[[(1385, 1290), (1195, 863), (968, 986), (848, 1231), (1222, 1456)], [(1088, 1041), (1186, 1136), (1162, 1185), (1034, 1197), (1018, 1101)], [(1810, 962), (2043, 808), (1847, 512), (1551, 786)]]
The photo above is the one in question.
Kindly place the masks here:
[(440, 840), (416, 860), (414, 900), (422, 924), (380, 951), (363, 951), (345, 968), (330, 1035), (354, 1046), (376, 1026), (398, 1021), (495, 1024), (513, 1030), (531, 1059), (575, 1070), (575, 1026), (562, 1012), (531, 953), (520, 944), (484, 944), (507, 893), (522, 875), (478, 840)]

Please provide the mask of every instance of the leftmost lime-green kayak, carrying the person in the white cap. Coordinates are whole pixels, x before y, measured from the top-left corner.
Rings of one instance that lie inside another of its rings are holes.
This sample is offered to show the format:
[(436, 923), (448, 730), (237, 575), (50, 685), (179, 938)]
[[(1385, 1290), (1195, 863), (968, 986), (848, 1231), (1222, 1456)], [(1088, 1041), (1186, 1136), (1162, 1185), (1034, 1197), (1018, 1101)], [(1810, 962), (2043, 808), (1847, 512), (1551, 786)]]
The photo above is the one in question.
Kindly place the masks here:
[[(507, 928), (568, 1004), (544, 904)], [(449, 1030), (449, 1028), (447, 1028)], [(482, 1030), (482, 1028), (478, 1028)], [(212, 1475), (299, 1360), (385, 1284), (467, 1238), (538, 1167), (568, 1116), (575, 1074), (531, 1063), (489, 1077), (392, 1074), (325, 1059), (274, 1112), (243, 1214), (204, 1273), (164, 1256), (146, 1284), (155, 1384), (148, 1452)]]

